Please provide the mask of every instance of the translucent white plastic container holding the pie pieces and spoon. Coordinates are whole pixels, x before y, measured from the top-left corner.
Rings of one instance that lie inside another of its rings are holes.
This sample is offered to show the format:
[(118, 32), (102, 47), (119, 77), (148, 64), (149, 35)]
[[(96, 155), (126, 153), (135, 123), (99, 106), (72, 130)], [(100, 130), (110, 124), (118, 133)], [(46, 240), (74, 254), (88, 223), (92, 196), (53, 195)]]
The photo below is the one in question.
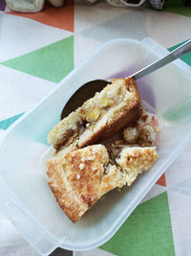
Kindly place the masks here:
[(101, 46), (43, 101), (9, 128), (0, 146), (0, 207), (40, 255), (57, 246), (85, 250), (107, 242), (191, 139), (191, 68), (180, 59), (138, 81), (142, 99), (162, 117), (159, 160), (126, 192), (113, 191), (75, 224), (47, 183), (48, 131), (85, 81), (128, 76), (167, 51), (152, 39)]

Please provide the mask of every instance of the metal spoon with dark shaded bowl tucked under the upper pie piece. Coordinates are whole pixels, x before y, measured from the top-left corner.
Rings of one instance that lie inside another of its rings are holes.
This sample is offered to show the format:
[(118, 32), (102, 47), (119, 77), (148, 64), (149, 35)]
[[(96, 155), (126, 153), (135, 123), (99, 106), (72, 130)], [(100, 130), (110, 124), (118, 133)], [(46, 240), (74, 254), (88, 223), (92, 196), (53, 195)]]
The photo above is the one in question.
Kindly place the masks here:
[[(170, 54), (168, 54), (164, 58), (160, 58), (159, 60), (142, 68), (135, 74), (131, 75), (129, 78), (134, 78), (135, 80), (143, 78), (146, 75), (159, 69), (160, 67), (189, 53), (190, 51), (191, 51), (191, 39), (185, 42), (184, 44), (182, 44), (180, 47), (178, 47), (174, 51), (172, 51)], [(101, 91), (103, 87), (105, 87), (108, 83), (112, 83), (112, 81), (94, 80), (94, 81), (88, 81), (84, 83), (78, 90), (74, 92), (74, 95), (69, 99), (67, 104), (64, 106), (61, 113), (61, 119), (68, 116), (78, 106), (83, 105), (85, 101), (92, 98), (96, 92)]]

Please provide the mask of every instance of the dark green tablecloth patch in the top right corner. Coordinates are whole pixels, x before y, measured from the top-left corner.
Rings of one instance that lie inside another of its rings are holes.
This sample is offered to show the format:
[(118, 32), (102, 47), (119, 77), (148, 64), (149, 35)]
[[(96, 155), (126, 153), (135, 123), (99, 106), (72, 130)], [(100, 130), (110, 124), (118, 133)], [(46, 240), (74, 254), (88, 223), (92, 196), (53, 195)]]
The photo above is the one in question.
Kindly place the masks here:
[(167, 0), (164, 2), (162, 12), (174, 12), (191, 17), (190, 7), (184, 7), (182, 0)]

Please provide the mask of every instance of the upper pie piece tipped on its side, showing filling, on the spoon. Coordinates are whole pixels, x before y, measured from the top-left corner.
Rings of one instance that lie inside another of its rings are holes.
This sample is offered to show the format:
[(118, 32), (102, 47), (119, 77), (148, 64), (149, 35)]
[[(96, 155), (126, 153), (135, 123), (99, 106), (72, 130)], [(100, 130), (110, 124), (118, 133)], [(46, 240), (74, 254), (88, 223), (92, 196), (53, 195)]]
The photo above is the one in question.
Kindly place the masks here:
[(48, 140), (56, 151), (74, 141), (78, 148), (83, 148), (132, 125), (141, 114), (136, 81), (118, 79), (60, 121), (49, 132)]

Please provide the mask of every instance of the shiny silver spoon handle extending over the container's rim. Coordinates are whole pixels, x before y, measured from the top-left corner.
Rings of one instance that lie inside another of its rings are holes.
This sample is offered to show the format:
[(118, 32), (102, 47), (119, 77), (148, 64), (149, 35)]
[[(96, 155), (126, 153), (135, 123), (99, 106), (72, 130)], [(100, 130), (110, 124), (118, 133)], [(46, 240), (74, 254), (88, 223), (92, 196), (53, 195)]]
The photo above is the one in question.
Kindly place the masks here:
[(134, 78), (138, 80), (143, 78), (144, 76), (152, 73), (153, 71), (159, 69), (160, 67), (172, 62), (173, 60), (180, 58), (181, 56), (189, 53), (191, 51), (191, 39), (185, 42), (184, 44), (180, 45), (177, 49), (172, 51), (170, 54), (165, 56), (164, 58), (160, 58), (159, 60), (155, 61), (154, 63), (140, 69), (138, 72), (134, 73), (130, 78)]

